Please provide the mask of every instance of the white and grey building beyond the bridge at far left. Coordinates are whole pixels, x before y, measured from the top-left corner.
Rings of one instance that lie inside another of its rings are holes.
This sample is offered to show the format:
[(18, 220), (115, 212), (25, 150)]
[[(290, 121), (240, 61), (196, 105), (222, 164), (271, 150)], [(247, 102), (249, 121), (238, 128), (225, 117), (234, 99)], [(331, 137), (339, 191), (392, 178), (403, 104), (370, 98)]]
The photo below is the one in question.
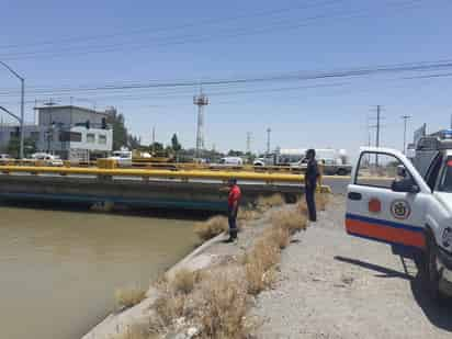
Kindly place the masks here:
[[(36, 143), (38, 151), (58, 155), (61, 159), (88, 160), (112, 151), (113, 131), (109, 114), (74, 105), (35, 108), (37, 125), (24, 127), (25, 138)], [(16, 126), (0, 127), (0, 146), (8, 147), (18, 134)]]

